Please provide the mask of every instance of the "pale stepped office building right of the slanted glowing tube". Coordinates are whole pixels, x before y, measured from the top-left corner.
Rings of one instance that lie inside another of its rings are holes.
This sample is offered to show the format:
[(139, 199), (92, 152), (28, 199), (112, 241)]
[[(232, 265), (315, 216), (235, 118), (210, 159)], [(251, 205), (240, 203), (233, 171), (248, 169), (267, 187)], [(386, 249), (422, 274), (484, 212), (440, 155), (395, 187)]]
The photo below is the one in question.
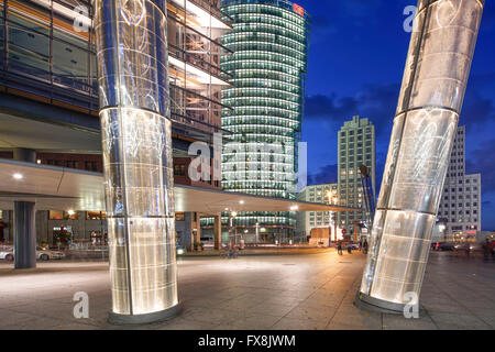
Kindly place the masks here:
[(465, 173), (465, 127), (458, 128), (450, 155), (438, 218), (446, 219), (448, 239), (475, 237), (481, 228), (481, 174)]

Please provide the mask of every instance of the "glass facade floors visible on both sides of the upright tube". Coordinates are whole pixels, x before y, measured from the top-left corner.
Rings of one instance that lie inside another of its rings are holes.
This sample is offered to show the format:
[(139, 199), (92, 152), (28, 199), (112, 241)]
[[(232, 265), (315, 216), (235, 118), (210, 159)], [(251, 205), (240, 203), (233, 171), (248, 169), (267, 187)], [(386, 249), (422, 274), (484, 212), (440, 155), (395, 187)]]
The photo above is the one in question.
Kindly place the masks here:
[[(220, 44), (230, 31), (218, 1), (170, 0), (166, 4), (173, 132), (211, 142), (220, 131)], [(0, 85), (45, 101), (98, 116), (94, 1), (0, 0)]]

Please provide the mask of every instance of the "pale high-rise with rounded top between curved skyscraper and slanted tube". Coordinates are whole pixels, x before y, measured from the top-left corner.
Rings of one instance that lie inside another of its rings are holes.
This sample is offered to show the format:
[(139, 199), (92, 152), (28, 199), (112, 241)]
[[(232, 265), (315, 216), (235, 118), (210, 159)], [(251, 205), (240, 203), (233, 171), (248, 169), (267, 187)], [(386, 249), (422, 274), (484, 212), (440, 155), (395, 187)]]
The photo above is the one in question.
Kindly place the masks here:
[(344, 125), (340, 129), (338, 143), (338, 204), (363, 209), (362, 211), (338, 215), (339, 227), (345, 229), (346, 234), (353, 237), (354, 223), (366, 221), (370, 218), (363, 200), (361, 165), (366, 165), (370, 169), (371, 185), (374, 193), (376, 191), (375, 127), (369, 119), (353, 117), (351, 121), (344, 122)]

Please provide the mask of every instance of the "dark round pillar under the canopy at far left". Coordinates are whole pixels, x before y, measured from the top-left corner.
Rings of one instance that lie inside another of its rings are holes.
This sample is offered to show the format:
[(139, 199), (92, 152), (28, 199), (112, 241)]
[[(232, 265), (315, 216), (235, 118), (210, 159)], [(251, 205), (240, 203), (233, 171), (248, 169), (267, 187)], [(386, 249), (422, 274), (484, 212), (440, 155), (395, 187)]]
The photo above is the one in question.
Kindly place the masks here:
[(35, 204), (14, 201), (14, 268), (36, 267)]

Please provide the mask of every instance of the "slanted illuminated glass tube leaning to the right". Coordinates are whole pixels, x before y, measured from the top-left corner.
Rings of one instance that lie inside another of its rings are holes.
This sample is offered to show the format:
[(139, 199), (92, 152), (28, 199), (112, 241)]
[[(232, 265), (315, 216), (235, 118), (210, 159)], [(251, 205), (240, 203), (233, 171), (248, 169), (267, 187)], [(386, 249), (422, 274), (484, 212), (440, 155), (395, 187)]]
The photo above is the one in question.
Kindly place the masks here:
[(418, 302), (483, 6), (418, 3), (358, 304)]

